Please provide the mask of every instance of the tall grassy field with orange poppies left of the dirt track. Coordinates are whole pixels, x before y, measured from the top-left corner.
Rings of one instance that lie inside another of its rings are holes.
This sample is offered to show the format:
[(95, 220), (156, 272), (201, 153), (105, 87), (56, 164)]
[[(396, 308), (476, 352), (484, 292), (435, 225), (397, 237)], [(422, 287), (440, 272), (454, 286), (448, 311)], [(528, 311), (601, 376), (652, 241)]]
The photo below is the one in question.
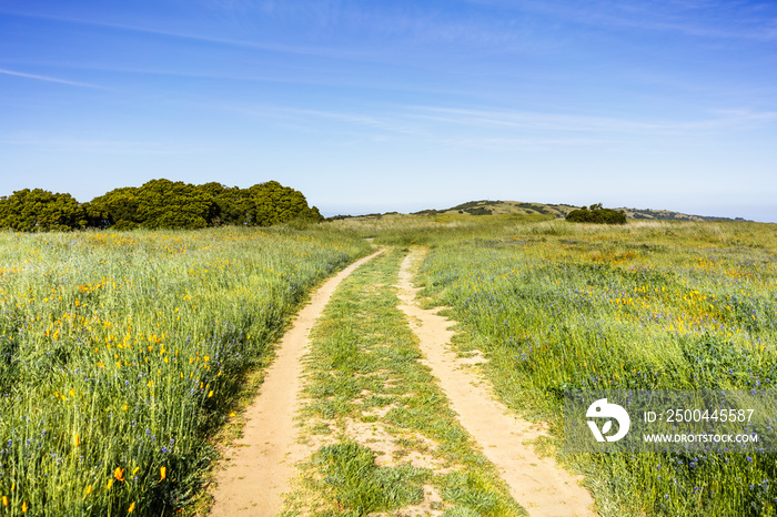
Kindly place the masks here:
[(0, 513), (185, 506), (244, 374), (365, 252), (321, 227), (0, 234)]

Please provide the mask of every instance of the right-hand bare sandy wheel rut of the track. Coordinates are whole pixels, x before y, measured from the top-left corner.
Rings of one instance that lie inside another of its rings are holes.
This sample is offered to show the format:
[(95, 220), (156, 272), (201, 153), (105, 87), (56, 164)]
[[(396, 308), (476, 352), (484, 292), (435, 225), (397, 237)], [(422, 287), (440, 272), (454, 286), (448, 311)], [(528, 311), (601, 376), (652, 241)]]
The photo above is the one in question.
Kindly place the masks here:
[(575, 476), (551, 457), (541, 457), (531, 442), (545, 436), (542, 426), (512, 415), (496, 399), (491, 383), (473, 364), (480, 356), (458, 358), (450, 347), (455, 322), (424, 310), (417, 303), (413, 272), (426, 251), (414, 249), (400, 271), (400, 308), (426, 356), (425, 364), (440, 379), (441, 387), (458, 414), (462, 426), (475, 438), (485, 456), (496, 465), (509, 486), (511, 495), (531, 516), (594, 516), (594, 500)]

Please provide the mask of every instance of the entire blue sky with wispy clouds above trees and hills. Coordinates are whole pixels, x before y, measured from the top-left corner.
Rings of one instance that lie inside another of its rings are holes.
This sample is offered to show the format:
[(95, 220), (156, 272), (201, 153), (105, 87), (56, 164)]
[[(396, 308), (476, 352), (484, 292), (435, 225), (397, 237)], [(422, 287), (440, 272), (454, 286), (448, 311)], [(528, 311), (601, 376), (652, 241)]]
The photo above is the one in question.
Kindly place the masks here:
[(153, 178), (777, 222), (777, 3), (0, 0), (0, 195)]

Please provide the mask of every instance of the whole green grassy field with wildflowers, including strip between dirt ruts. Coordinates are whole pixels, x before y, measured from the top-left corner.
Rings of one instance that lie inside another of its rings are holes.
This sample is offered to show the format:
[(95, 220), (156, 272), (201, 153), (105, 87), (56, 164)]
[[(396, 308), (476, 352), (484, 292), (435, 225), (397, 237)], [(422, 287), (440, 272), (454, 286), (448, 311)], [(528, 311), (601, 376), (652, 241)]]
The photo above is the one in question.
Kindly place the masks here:
[[(265, 232), (2, 233), (0, 513), (185, 507), (246, 373), (268, 363), (311, 286), (367, 253), (364, 237), (431, 249), (423, 294), (460, 322), (456, 347), (484, 352), (505, 404), (549, 423), (546, 450), (563, 439), (565, 389), (777, 383), (775, 225), (444, 214)], [(297, 511), (392, 511), (433, 487), (451, 515), (519, 513), (466, 436), (440, 432), (456, 424), (396, 311), (398, 256), (343, 284), (314, 330), (306, 415), (321, 446)], [(398, 443), (395, 462), (380, 466), (380, 450), (349, 440), (354, 425)], [(430, 440), (446, 453), (428, 469), (403, 467)], [(558, 458), (585, 473), (603, 515), (776, 515), (770, 455)], [(353, 472), (370, 483), (350, 484)]]

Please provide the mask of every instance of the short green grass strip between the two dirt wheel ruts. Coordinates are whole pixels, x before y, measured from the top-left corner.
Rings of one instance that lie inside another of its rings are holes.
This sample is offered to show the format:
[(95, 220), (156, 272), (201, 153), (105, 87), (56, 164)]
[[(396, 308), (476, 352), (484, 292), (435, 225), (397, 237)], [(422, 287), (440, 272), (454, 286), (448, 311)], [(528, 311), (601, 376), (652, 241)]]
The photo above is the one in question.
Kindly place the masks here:
[[(287, 514), (396, 510), (428, 485), (451, 515), (523, 515), (418, 362), (392, 287), (403, 255), (387, 251), (356, 270), (313, 328), (302, 419), (311, 443), (324, 444)], [(426, 464), (413, 467), (411, 456)]]

